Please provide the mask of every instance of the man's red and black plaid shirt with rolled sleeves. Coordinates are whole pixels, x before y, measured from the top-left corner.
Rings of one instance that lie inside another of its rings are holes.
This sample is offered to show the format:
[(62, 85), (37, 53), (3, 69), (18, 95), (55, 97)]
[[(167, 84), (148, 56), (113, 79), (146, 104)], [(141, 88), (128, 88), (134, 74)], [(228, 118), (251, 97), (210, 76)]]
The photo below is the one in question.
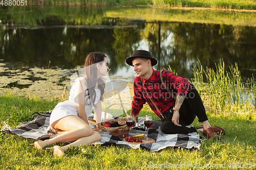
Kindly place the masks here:
[[(192, 89), (187, 79), (176, 76), (172, 71), (163, 70), (162, 77), (166, 87), (169, 88), (175, 96), (186, 95), (186, 93)], [(158, 113), (151, 100), (147, 98), (144, 89), (146, 89), (148, 96), (156, 104), (162, 114), (167, 113), (175, 106), (176, 100), (162, 85), (160, 79), (160, 70), (156, 71), (153, 69), (153, 74), (151, 75), (150, 79), (146, 80), (142, 77), (142, 83), (141, 78), (136, 77), (134, 79), (133, 88), (134, 97), (131, 114), (138, 115), (140, 110), (143, 108), (143, 104), (147, 102), (156, 115), (160, 117), (160, 113)]]

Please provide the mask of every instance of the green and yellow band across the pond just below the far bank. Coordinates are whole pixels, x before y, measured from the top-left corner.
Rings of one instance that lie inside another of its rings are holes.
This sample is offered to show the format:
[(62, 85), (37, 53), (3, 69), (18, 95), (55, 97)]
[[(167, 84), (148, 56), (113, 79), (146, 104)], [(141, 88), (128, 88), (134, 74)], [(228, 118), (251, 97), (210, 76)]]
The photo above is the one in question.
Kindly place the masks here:
[[(17, 12), (18, 11), (18, 12)], [(153, 7), (67, 7), (46, 5), (40, 8), (10, 7), (0, 11), (2, 22), (14, 22), (16, 25), (41, 26), (47, 18), (58, 18), (66, 23), (75, 25), (102, 25), (109, 18), (116, 18), (118, 24), (123, 19), (145, 20), (146, 22), (191, 22), (211, 23), (232, 26), (256, 26), (255, 12), (230, 12), (221, 10), (166, 9)], [(22, 14), (22, 15), (21, 15)], [(120, 19), (118, 19), (120, 18)]]

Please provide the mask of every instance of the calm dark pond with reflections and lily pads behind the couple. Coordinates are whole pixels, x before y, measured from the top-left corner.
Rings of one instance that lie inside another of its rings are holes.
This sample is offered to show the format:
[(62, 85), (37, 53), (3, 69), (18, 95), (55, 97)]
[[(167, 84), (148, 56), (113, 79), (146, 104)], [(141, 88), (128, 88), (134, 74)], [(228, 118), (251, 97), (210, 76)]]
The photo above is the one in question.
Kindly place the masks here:
[[(189, 19), (195, 15), (203, 22)], [(39, 76), (42, 71), (33, 72), (43, 68), (69, 72), (56, 78), (60, 83), (96, 51), (108, 57), (110, 76), (129, 81), (136, 75), (125, 59), (135, 50), (150, 51), (158, 60), (155, 69), (170, 66), (186, 78), (193, 77), (191, 67), (199, 60), (204, 68), (224, 61), (228, 69), (237, 62), (246, 80), (256, 71), (256, 21), (240, 23), (237, 16), (256, 18), (255, 13), (149, 7), (0, 7), (1, 87), (22, 89), (46, 81), (49, 77)], [(223, 18), (239, 21), (223, 24)]]

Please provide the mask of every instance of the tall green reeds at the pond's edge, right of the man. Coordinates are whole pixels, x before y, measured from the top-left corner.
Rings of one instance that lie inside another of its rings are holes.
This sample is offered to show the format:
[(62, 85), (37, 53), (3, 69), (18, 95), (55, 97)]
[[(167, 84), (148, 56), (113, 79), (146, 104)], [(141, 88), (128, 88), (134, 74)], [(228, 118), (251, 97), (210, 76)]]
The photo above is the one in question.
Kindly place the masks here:
[(202, 68), (200, 61), (194, 66), (194, 83), (208, 110), (214, 114), (239, 114), (245, 119), (255, 117), (255, 82), (252, 78), (242, 80), (237, 63), (225, 71), (224, 61), (216, 64), (216, 69)]

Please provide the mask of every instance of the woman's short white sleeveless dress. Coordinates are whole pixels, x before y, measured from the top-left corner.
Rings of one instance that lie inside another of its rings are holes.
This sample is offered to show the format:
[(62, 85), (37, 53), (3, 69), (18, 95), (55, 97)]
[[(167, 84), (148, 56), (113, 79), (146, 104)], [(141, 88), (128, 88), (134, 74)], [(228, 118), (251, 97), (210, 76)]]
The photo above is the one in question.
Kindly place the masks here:
[[(50, 117), (50, 125), (52, 125), (52, 123), (54, 123), (55, 121), (69, 115), (78, 116), (76, 96), (77, 96), (77, 90), (82, 89), (82, 87), (80, 86), (80, 83), (77, 83), (79, 81), (86, 82), (84, 78), (77, 78), (74, 81), (72, 88), (70, 89), (69, 100), (58, 103), (55, 106), (55, 108), (52, 110), (51, 117)], [(87, 83), (86, 83), (86, 86), (87, 86)], [(101, 92), (99, 89), (95, 89), (95, 92), (96, 92), (96, 99), (95, 99), (95, 104), (96, 104), (100, 99)], [(85, 100), (87, 100), (88, 97), (89, 97), (88, 90), (86, 90), (86, 93), (84, 94)], [(88, 105), (85, 103), (84, 110), (86, 111), (87, 117), (89, 117), (92, 114), (93, 108), (94, 107), (92, 104)]]

